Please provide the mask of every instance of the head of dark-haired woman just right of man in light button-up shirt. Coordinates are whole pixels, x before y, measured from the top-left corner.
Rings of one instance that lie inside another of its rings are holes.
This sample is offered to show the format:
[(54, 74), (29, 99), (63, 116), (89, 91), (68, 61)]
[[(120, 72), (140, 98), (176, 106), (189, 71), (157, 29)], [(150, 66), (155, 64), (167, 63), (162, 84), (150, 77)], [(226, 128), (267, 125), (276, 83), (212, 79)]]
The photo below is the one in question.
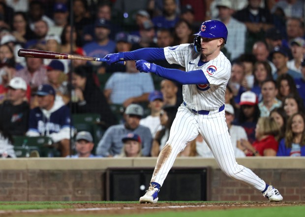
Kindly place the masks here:
[(278, 90), (278, 94), (276, 98), (283, 101), (283, 99), (289, 95), (290, 93), (294, 95), (298, 95), (298, 90), (296, 88), (296, 84), (293, 78), (288, 74), (280, 75), (276, 79), (276, 87)]

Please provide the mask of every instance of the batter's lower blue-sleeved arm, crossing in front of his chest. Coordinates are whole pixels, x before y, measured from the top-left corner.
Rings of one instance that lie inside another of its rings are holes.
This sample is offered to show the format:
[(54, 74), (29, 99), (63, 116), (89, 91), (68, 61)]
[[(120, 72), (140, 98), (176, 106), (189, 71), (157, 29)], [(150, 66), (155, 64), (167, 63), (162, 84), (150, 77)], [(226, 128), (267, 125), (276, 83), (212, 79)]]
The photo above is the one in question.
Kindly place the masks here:
[(182, 71), (156, 66), (155, 74), (163, 78), (177, 81), (181, 84), (209, 84), (209, 81), (202, 70)]

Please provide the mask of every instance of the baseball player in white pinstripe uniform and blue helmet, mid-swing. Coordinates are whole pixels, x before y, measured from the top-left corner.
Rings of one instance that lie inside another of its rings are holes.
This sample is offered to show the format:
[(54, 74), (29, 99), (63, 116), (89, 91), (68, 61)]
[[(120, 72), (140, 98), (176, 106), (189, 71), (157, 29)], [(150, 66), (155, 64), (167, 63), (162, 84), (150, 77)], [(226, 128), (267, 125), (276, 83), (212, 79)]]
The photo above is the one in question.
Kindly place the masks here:
[[(216, 20), (205, 21), (195, 35), (193, 44), (143, 48), (105, 57), (109, 64), (138, 60), (136, 66), (139, 71), (152, 72), (183, 84), (183, 104), (178, 108), (169, 139), (158, 156), (151, 185), (140, 198), (140, 203), (158, 201), (159, 188), (175, 158), (199, 133), (227, 176), (256, 188), (270, 201), (281, 201), (283, 197), (277, 189), (267, 185), (235, 160), (224, 116), (224, 95), (231, 74), (231, 63), (220, 51), (227, 40), (226, 26)], [(180, 64), (185, 67), (185, 71), (150, 63), (156, 60)]]

